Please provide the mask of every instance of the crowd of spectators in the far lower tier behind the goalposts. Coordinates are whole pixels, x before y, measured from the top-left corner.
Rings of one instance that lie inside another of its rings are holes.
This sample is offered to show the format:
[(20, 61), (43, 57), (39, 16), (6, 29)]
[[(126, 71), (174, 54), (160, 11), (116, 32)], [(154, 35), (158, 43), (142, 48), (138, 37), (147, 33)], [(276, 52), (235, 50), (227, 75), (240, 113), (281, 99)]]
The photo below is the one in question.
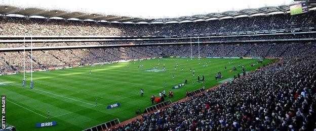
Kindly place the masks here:
[[(76, 45), (78, 42), (36, 43), (37, 46)], [(99, 42), (81, 42), (80, 45), (99, 44)], [(8, 44), (9, 45), (9, 44)], [(13, 44), (15, 46), (15, 44)], [(29, 45), (27, 45), (29, 46)], [(300, 52), (316, 46), (314, 42), (258, 42), (200, 44), (201, 57), (293, 57)], [(147, 46), (112, 46), (99, 48), (72, 48), (51, 50), (29, 50), (25, 53), (25, 67), (30, 70), (46, 69), (72, 65), (112, 62), (124, 59), (141, 59), (161, 56), (199, 56), (198, 44), (147, 45)], [(23, 70), (23, 51), (0, 52), (1, 73)]]

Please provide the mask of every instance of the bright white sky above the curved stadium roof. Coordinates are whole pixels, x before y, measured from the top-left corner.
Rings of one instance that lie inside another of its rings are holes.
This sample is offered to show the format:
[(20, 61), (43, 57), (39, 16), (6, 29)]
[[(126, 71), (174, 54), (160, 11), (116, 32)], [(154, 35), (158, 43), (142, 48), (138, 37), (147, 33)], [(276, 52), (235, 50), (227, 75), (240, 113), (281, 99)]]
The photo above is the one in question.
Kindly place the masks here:
[(0, 5), (21, 8), (65, 10), (69, 12), (140, 18), (177, 18), (198, 14), (238, 11), (248, 8), (293, 4), (293, 0), (0, 0)]

